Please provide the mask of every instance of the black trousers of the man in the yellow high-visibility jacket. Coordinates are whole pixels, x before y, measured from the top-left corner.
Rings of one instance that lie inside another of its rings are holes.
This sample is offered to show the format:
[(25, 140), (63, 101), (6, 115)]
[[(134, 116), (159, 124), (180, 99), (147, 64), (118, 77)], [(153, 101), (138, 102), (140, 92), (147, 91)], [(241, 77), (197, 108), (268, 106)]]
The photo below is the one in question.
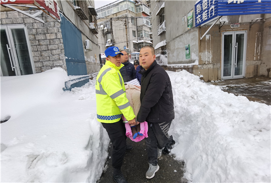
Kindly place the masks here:
[(115, 123), (102, 123), (102, 126), (107, 131), (113, 145), (112, 167), (120, 169), (127, 147), (126, 129), (123, 120), (120, 119), (118, 122)]

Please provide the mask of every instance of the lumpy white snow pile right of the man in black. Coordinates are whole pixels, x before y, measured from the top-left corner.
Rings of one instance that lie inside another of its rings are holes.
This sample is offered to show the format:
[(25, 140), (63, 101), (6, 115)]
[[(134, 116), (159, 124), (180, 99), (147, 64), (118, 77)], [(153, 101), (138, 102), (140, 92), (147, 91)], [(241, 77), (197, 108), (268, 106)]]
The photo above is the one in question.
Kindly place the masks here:
[(193, 182), (270, 182), (270, 106), (206, 85), (186, 71), (169, 72), (175, 119), (171, 153)]

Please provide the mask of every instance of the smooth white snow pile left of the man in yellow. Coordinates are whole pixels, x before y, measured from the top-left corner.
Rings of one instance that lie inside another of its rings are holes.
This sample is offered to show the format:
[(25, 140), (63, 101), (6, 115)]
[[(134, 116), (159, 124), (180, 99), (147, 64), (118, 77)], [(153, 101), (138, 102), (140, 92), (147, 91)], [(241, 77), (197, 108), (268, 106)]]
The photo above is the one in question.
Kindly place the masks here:
[(64, 92), (62, 69), (1, 77), (1, 182), (96, 182), (109, 138), (96, 119), (95, 80)]

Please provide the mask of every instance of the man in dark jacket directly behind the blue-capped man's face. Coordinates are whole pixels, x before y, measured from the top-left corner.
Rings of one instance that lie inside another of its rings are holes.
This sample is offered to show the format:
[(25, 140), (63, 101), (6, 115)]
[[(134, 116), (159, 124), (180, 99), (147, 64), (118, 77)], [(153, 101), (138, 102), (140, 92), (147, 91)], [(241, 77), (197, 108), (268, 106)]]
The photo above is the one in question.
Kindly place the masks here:
[(120, 73), (123, 78), (123, 81), (128, 82), (136, 78), (135, 67), (132, 63), (129, 62), (128, 53), (126, 51), (120, 51), (120, 52), (123, 53), (123, 55), (121, 56), (121, 63), (124, 65), (124, 67), (120, 69)]

